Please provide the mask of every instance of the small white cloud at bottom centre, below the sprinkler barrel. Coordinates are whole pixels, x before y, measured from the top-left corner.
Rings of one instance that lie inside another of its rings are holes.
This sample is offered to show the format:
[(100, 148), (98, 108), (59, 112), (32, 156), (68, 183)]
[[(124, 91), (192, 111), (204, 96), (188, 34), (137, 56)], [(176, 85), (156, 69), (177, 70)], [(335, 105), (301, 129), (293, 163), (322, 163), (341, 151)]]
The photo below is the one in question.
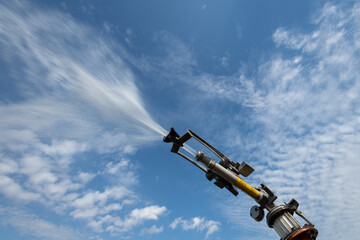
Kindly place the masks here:
[(206, 231), (205, 238), (208, 238), (211, 234), (220, 230), (220, 225), (220, 222), (206, 220), (205, 217), (194, 217), (190, 220), (184, 220), (179, 217), (170, 224), (170, 228), (175, 229), (177, 227), (181, 227), (184, 231)]

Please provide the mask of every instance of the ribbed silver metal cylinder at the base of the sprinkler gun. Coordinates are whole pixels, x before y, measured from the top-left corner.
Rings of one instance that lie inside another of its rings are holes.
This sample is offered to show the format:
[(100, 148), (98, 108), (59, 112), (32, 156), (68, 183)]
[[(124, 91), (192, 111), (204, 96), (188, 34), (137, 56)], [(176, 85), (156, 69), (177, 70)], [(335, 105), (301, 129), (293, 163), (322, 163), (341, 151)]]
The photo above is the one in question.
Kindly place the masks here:
[(301, 225), (289, 212), (284, 212), (275, 220), (273, 228), (280, 239), (285, 239), (293, 230), (301, 228)]

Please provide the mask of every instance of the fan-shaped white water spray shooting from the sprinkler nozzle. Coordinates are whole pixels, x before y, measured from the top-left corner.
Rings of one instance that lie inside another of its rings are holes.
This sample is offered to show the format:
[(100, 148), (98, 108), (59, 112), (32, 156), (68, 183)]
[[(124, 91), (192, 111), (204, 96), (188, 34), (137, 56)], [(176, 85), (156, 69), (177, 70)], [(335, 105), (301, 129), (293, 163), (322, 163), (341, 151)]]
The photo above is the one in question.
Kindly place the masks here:
[(85, 139), (116, 129), (134, 144), (167, 133), (145, 109), (117, 43), (60, 12), (17, 3), (0, 13), (2, 58), (22, 99), (0, 104), (0, 129)]

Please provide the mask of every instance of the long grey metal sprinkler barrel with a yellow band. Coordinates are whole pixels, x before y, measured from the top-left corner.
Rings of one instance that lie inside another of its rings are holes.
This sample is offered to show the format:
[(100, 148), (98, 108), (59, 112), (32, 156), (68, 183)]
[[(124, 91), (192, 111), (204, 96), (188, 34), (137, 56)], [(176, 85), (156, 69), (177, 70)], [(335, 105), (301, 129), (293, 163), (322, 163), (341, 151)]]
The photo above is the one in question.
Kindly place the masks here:
[(253, 188), (251, 185), (247, 184), (244, 180), (239, 178), (235, 173), (229, 169), (224, 168), (218, 164), (215, 160), (205, 156), (203, 152), (198, 152), (195, 156), (195, 159), (202, 164), (204, 164), (208, 169), (224, 178), (226, 181), (258, 201), (261, 198), (260, 192)]

